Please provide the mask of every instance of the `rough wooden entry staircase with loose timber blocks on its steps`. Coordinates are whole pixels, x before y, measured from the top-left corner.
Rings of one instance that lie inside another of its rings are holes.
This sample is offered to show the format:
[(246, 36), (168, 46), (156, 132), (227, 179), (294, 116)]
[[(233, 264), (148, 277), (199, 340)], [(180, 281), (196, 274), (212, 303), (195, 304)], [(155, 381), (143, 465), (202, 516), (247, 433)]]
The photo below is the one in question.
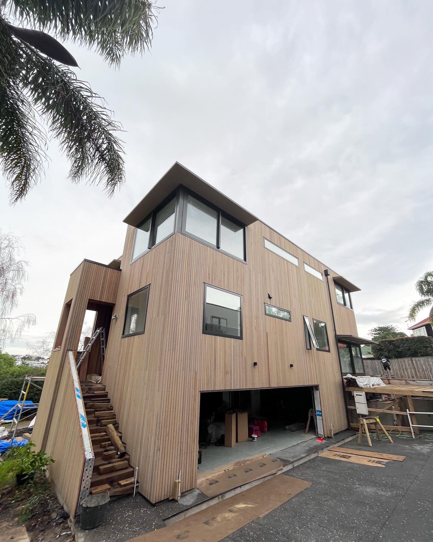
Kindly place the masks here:
[[(105, 386), (87, 381), (80, 384), (95, 455), (90, 494), (108, 491), (110, 496), (129, 495), (134, 492), (134, 467), (129, 463), (128, 453), (123, 457), (117, 457), (107, 435), (106, 426), (110, 423), (113, 424), (117, 435), (122, 440), (122, 433), (119, 431), (116, 414), (110, 404)], [(126, 448), (124, 443), (123, 446)]]

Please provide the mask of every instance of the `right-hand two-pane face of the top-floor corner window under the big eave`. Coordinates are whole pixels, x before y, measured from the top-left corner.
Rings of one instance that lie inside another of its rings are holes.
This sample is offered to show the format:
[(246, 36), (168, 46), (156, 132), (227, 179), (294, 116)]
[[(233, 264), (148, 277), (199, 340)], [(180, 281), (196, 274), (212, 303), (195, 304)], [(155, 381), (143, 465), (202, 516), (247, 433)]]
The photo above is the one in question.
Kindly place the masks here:
[(245, 261), (245, 226), (184, 192), (182, 234)]

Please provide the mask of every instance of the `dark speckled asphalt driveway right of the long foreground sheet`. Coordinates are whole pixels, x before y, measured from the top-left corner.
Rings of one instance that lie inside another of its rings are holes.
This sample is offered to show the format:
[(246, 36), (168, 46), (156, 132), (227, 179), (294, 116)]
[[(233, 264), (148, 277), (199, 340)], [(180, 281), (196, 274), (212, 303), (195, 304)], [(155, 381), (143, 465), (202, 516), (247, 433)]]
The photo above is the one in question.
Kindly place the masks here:
[[(357, 439), (343, 447), (372, 449)], [(307, 461), (286, 474), (312, 482), (309, 488), (224, 540), (431, 542), (433, 444), (395, 438), (373, 441), (373, 449), (406, 459), (383, 468), (320, 456)]]

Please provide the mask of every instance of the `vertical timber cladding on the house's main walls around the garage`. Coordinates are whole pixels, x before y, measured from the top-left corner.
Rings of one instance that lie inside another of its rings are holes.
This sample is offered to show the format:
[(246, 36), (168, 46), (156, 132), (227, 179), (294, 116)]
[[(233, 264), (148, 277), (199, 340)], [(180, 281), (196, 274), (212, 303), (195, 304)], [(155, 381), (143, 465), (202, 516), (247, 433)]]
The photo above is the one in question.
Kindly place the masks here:
[[(263, 237), (300, 267), (265, 249)], [(259, 221), (247, 228), (247, 264), (178, 233), (130, 264), (133, 240), (128, 227), (103, 382), (143, 495), (169, 498), (179, 470), (181, 491), (195, 487), (200, 391), (317, 384), (325, 435), (331, 423), (334, 432), (347, 427), (326, 281), (303, 262), (322, 273), (323, 264)], [(202, 333), (204, 283), (242, 295), (242, 340)], [(145, 333), (121, 338), (126, 296), (148, 284)], [(265, 315), (268, 293), (292, 322)], [(345, 330), (356, 334), (345, 310)], [(326, 322), (330, 353), (306, 350), (303, 315)]]

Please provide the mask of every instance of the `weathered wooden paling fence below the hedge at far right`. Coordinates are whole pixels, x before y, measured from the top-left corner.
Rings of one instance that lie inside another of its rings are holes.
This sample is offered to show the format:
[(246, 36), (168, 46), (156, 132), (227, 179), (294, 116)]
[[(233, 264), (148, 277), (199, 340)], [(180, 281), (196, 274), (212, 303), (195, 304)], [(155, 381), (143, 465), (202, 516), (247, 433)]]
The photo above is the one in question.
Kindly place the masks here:
[[(391, 359), (390, 365), (395, 378), (433, 380), (433, 356)], [(380, 376), (384, 372), (379, 359), (364, 359), (364, 367), (366, 375)]]

